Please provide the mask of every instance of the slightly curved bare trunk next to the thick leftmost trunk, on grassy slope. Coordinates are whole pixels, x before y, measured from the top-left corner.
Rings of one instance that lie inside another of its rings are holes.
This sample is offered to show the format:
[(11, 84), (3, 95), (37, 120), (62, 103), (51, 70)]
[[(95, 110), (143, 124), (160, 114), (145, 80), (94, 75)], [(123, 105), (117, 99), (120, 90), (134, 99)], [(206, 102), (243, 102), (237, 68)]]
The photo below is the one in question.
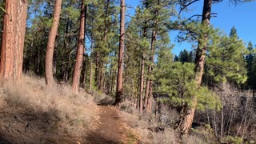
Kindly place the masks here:
[(50, 26), (50, 33), (46, 48), (46, 85), (51, 85), (54, 82), (53, 75), (53, 58), (54, 58), (54, 44), (58, 32), (58, 23), (62, 10), (62, 0), (56, 0), (54, 7), (54, 22)]

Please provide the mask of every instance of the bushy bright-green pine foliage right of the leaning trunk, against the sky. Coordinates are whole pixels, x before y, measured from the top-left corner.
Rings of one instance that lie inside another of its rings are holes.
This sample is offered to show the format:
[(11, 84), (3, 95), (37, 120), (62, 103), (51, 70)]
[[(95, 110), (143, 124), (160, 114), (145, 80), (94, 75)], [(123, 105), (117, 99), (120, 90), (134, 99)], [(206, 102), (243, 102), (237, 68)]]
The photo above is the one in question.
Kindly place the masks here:
[(206, 64), (208, 73), (214, 82), (230, 82), (234, 84), (246, 82), (246, 63), (243, 56), (246, 48), (234, 28), (230, 31), (230, 37), (221, 36), (210, 50)]

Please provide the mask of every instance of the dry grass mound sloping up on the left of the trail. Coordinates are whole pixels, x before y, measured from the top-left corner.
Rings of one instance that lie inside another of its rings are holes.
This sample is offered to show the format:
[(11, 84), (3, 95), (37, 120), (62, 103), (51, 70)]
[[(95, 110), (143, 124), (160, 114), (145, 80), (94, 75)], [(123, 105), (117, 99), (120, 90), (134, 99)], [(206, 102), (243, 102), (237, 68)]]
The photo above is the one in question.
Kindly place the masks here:
[(0, 110), (0, 143), (82, 141), (98, 120), (89, 94), (66, 85), (47, 87), (44, 79), (26, 75), (20, 84), (0, 90)]

